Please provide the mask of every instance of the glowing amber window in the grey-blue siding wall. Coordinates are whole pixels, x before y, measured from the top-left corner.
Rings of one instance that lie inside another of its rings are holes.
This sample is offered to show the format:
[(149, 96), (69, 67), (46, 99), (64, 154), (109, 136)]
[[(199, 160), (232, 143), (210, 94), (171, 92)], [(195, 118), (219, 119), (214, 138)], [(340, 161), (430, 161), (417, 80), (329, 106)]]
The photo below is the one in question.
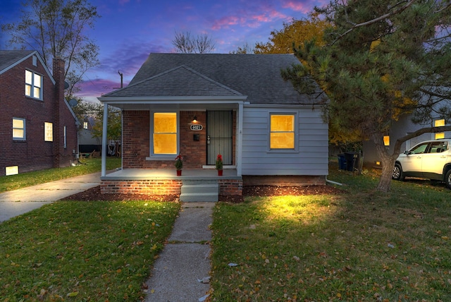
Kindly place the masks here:
[(295, 115), (271, 114), (269, 147), (295, 149)]

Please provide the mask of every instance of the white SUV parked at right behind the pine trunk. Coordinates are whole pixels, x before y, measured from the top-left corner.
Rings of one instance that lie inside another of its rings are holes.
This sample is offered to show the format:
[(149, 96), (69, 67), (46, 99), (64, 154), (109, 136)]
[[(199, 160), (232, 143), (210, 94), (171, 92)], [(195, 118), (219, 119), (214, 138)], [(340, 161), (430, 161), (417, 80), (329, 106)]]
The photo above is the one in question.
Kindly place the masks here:
[(419, 177), (445, 181), (451, 188), (451, 139), (426, 140), (397, 157), (393, 179)]

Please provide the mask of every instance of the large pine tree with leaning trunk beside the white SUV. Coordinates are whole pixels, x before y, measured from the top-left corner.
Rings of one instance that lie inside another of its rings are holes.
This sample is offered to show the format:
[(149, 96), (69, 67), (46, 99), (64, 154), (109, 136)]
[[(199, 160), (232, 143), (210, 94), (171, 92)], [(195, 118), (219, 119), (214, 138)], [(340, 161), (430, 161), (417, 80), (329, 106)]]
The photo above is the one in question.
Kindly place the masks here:
[(451, 100), (451, 4), (433, 0), (331, 1), (316, 8), (332, 26), (323, 46), (314, 41), (297, 47), (302, 65), (283, 72), (299, 90), (318, 83), (328, 94), (326, 111), (335, 126), (373, 140), (383, 163), (379, 191), (390, 190), (393, 153), (383, 145), (394, 121), (414, 114), (431, 122), (433, 112), (449, 119)]

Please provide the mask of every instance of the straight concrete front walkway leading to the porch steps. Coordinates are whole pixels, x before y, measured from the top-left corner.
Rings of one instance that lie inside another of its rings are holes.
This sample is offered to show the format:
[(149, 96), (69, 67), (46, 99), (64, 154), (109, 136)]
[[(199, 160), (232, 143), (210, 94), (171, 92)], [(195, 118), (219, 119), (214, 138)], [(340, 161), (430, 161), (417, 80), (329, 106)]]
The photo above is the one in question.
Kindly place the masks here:
[(203, 301), (209, 291), (215, 203), (183, 203), (168, 244), (154, 263), (146, 302)]

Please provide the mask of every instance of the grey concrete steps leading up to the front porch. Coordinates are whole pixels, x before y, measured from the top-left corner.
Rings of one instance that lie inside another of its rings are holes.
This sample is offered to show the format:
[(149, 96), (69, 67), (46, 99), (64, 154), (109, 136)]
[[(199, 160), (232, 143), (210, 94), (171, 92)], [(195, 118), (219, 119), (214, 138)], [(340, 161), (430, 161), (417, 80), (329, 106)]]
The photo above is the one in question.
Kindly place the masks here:
[(216, 203), (218, 194), (219, 185), (216, 181), (183, 181), (180, 201), (183, 203)]

